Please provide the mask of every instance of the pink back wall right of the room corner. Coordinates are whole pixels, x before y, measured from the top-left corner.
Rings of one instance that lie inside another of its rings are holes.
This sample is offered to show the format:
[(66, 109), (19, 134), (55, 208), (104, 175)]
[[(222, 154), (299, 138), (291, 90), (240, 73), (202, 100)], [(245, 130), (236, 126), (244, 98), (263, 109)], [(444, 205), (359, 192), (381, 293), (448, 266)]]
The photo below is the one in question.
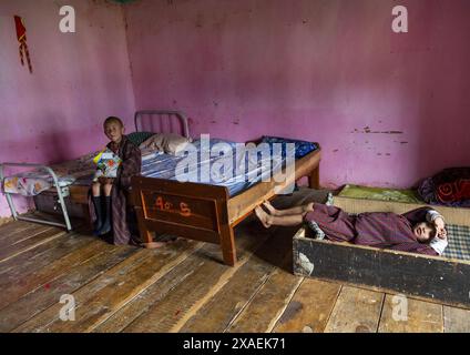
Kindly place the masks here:
[[(408, 34), (391, 9), (409, 10)], [(324, 148), (325, 185), (409, 186), (470, 164), (468, 0), (142, 0), (125, 7), (137, 109), (195, 134)]]

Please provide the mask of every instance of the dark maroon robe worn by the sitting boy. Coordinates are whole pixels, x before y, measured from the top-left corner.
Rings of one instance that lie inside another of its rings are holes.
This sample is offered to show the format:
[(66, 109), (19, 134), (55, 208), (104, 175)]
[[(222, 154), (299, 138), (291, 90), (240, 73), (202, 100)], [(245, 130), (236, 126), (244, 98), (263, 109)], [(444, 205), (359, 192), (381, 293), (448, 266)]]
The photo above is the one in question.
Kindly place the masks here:
[[(108, 148), (113, 150), (112, 142)], [(115, 150), (114, 150), (115, 151)], [(136, 235), (136, 219), (132, 206), (127, 205), (127, 195), (131, 189), (131, 178), (139, 175), (142, 169), (141, 150), (135, 146), (125, 135), (115, 153), (121, 158), (122, 164), (117, 170), (111, 191), (111, 225), (113, 232), (113, 244), (123, 245), (131, 242), (131, 236)], [(91, 221), (96, 220), (94, 206), (89, 200)]]

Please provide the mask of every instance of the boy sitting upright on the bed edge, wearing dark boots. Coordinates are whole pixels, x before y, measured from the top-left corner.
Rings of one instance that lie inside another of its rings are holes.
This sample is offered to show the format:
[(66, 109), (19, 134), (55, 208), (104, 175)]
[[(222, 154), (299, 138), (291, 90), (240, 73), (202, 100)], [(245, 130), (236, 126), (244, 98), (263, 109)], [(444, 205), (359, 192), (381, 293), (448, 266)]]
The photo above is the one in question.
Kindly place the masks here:
[[(129, 244), (131, 242), (129, 222), (133, 211), (127, 211), (126, 200), (131, 178), (141, 172), (141, 151), (124, 135), (124, 124), (119, 118), (108, 118), (103, 129), (111, 141), (106, 145), (108, 149), (117, 155), (121, 162), (114, 179), (96, 174), (96, 180), (92, 184), (91, 220), (94, 221), (96, 235), (112, 231), (114, 244)], [(104, 193), (104, 211), (101, 209), (101, 191)]]

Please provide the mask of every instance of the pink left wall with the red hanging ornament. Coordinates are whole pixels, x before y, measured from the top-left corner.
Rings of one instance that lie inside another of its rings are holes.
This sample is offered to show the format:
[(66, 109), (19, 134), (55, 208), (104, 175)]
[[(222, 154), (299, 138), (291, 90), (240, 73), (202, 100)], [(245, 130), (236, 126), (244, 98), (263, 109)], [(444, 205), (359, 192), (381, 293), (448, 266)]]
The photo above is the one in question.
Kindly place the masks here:
[[(59, 8), (76, 33), (59, 31)], [(13, 14), (28, 30), (33, 74), (21, 67)], [(55, 162), (101, 148), (103, 118), (134, 112), (122, 8), (99, 0), (0, 1), (0, 161)], [(25, 203), (20, 202), (22, 211)], [(10, 215), (0, 196), (0, 216)]]

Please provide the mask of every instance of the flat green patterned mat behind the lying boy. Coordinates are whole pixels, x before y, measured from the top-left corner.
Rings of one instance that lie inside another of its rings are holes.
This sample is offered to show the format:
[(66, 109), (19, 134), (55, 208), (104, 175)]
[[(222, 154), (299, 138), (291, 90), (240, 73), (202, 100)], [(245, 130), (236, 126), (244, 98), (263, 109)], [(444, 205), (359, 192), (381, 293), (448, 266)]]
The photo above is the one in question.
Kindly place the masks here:
[(422, 203), (422, 200), (418, 197), (418, 194), (415, 192), (415, 190), (396, 190), (382, 187), (367, 187), (359, 185), (346, 185), (339, 193), (339, 196), (405, 203)]

